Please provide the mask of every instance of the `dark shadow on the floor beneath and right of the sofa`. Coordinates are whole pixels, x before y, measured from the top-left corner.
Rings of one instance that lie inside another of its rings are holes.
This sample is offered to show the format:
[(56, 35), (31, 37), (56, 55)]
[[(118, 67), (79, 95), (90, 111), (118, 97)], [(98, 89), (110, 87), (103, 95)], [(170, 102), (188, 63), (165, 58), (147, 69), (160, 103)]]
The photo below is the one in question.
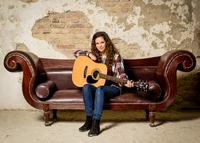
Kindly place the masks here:
[[(104, 110), (101, 123), (104, 122), (114, 122), (108, 128), (116, 126), (120, 122), (147, 122), (149, 119), (145, 118), (146, 113), (142, 110)], [(51, 113), (52, 117), (52, 113)], [(178, 109), (178, 110), (166, 110), (157, 111), (155, 113), (155, 124), (160, 126), (166, 124), (167, 122), (179, 122), (186, 120), (194, 120), (200, 118), (200, 109)], [(44, 122), (43, 115), (38, 117), (38, 120)], [(74, 111), (74, 110), (58, 110), (57, 119), (50, 119), (52, 124), (58, 122), (84, 122), (85, 113), (84, 111)]]

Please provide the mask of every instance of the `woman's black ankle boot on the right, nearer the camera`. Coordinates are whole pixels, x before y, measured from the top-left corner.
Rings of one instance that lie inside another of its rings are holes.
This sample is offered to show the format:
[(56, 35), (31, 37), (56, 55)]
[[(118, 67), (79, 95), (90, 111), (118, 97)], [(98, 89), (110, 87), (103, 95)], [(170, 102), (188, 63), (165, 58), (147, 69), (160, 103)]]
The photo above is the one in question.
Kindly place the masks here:
[(88, 132), (89, 137), (97, 136), (100, 133), (100, 126), (99, 126), (100, 120), (93, 120), (92, 122), (92, 128)]

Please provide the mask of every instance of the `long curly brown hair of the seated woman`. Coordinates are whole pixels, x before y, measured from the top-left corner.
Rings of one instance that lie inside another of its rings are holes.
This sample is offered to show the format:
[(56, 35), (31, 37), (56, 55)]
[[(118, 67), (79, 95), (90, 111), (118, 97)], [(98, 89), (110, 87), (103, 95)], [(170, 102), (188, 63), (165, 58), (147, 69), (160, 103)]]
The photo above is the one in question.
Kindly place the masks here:
[(110, 40), (108, 34), (103, 31), (96, 32), (93, 35), (92, 42), (91, 42), (91, 52), (93, 55), (96, 56), (97, 62), (101, 63), (101, 52), (98, 51), (96, 48), (95, 40), (98, 37), (103, 37), (103, 39), (106, 41), (106, 64), (111, 65), (114, 62), (114, 56), (115, 54), (119, 54), (118, 49), (114, 46), (112, 41)]

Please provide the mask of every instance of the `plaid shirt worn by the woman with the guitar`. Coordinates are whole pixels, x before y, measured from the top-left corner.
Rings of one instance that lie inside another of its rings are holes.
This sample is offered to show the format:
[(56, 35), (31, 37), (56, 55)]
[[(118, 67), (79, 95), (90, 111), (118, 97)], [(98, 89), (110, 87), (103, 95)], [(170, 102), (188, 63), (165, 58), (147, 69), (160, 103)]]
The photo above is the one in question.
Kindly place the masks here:
[[(80, 55), (88, 56), (89, 54), (90, 54), (89, 51), (82, 51), (82, 50), (77, 50), (76, 52), (74, 52), (74, 56), (76, 58)], [(124, 63), (123, 63), (122, 57), (119, 54), (115, 54), (114, 58), (115, 58), (114, 63), (111, 65), (113, 76), (116, 77), (116, 78), (128, 80), (128, 76), (125, 73)], [(102, 56), (102, 61), (105, 64), (106, 56)], [(118, 84), (118, 86), (122, 87), (122, 84)]]

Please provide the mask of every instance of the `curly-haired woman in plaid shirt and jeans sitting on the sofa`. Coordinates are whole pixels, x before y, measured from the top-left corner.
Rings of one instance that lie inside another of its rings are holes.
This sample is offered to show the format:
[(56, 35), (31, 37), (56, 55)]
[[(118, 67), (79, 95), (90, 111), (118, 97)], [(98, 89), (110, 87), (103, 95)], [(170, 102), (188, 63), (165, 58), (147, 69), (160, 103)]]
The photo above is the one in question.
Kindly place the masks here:
[[(109, 36), (105, 32), (97, 32), (93, 35), (91, 42), (91, 52), (78, 50), (75, 57), (86, 55), (97, 63), (104, 63), (108, 68), (108, 73), (116, 78), (126, 79), (127, 87), (133, 87), (134, 83), (128, 80), (124, 71), (123, 59), (119, 51), (115, 48)], [(96, 136), (100, 132), (100, 119), (104, 101), (114, 98), (121, 93), (124, 85), (114, 82), (106, 82), (105, 85), (95, 87), (92, 84), (85, 84), (82, 88), (83, 101), (85, 105), (86, 121), (79, 131), (87, 131), (88, 136)], [(93, 110), (94, 109), (94, 110)]]

